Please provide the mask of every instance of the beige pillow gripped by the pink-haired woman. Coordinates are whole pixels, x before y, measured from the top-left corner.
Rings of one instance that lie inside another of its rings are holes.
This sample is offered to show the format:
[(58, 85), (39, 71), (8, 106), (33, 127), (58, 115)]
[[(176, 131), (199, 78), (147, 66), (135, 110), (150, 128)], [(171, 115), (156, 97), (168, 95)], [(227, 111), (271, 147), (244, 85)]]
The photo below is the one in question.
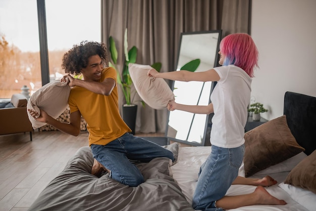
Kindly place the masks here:
[(154, 80), (147, 76), (149, 65), (129, 64), (129, 73), (139, 97), (151, 108), (167, 108), (169, 101), (175, 99), (168, 83), (163, 78)]

